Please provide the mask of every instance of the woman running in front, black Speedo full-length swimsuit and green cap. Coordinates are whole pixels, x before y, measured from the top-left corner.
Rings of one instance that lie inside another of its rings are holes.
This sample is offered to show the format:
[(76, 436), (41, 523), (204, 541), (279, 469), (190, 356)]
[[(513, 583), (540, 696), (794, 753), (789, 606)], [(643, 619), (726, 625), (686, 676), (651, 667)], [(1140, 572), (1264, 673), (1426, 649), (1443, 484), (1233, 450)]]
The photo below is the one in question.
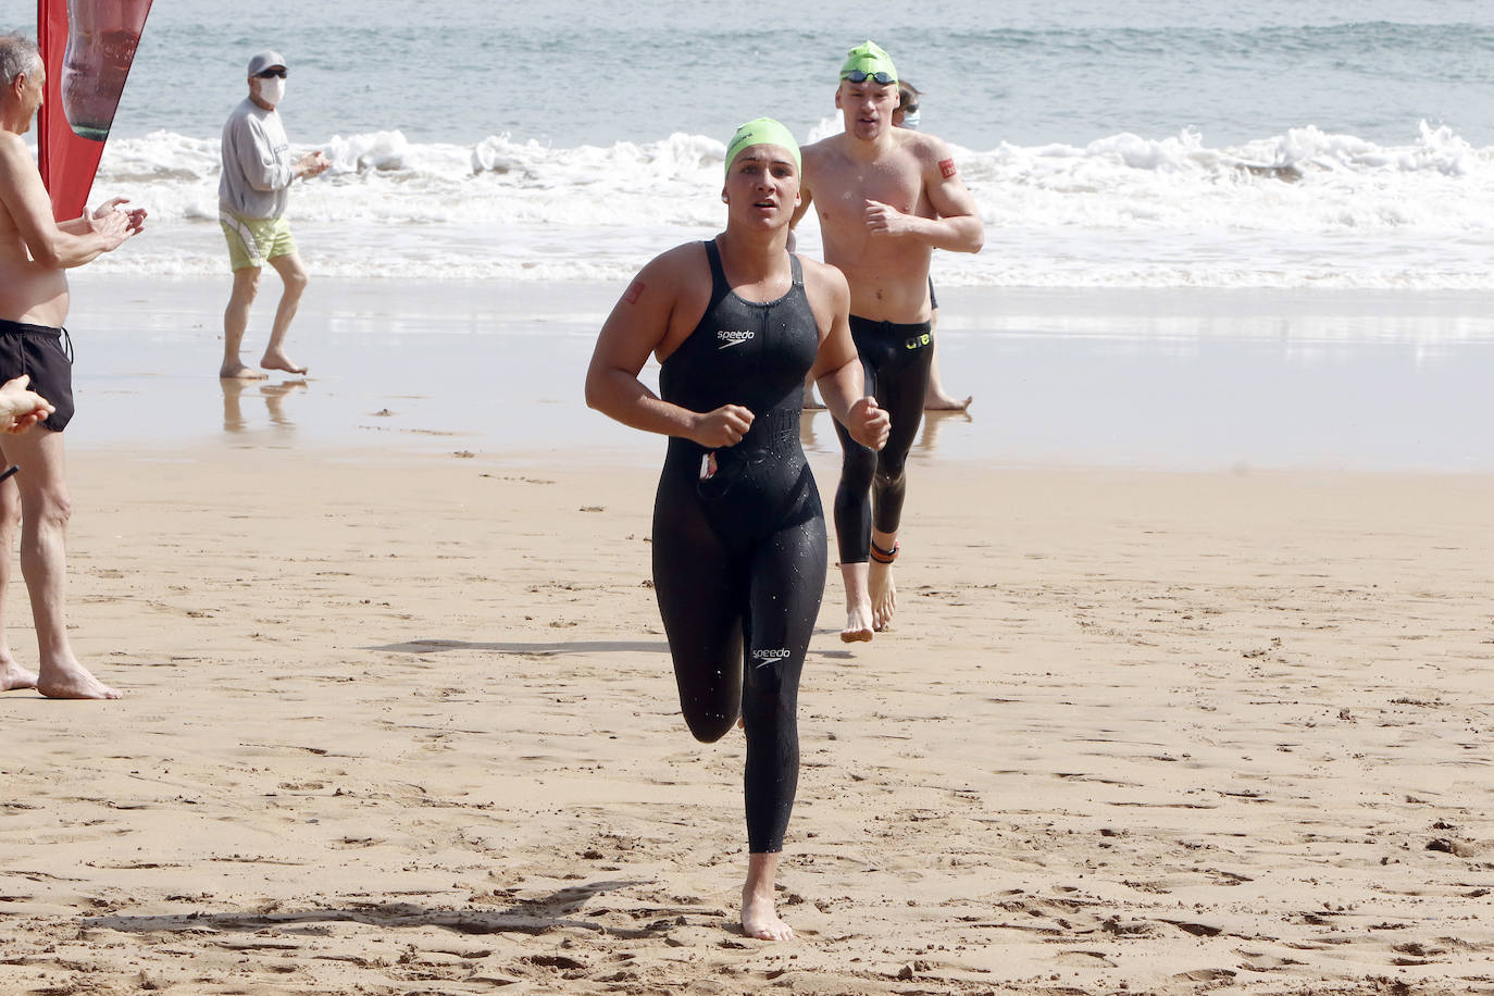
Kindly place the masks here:
[[(826, 536), (799, 446), (804, 375), (868, 451), (887, 414), (862, 396), (834, 267), (787, 251), (799, 148), (777, 121), (748, 121), (726, 149), (726, 230), (648, 263), (592, 354), (586, 402), (669, 436), (654, 502), (653, 576), (680, 708), (714, 742), (747, 735), (743, 933), (783, 941), (774, 880), (799, 771), (798, 690), (820, 597)], [(648, 354), (659, 394), (638, 379)]]

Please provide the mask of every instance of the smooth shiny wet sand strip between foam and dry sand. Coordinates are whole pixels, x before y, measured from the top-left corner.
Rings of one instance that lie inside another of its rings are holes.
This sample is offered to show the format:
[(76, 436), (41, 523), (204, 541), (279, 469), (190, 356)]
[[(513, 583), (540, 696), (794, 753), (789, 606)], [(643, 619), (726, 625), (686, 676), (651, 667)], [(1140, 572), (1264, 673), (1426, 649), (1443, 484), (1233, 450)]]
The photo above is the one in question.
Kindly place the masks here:
[[(223, 385), (229, 278), (73, 281), (73, 448), (472, 452), (650, 464), (586, 409), (607, 284), (314, 278), (290, 354), (311, 376)], [(257, 358), (267, 279), (245, 345)], [(1425, 291), (940, 288), (947, 390), (914, 460), (1147, 470), (1494, 472), (1494, 303)], [(650, 363), (645, 382), (656, 376)], [(808, 415), (811, 454), (837, 452)]]

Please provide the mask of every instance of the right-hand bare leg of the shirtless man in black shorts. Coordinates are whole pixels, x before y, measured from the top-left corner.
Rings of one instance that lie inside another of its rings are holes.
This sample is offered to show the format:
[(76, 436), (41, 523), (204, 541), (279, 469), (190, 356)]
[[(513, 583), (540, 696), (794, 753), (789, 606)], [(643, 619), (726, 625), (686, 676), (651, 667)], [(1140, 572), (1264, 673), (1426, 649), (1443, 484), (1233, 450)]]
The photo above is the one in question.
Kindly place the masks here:
[(33, 429), (7, 439), (4, 449), (24, 467), (12, 481), (21, 491), (21, 573), (31, 594), (31, 618), (36, 621), (40, 664), (36, 690), (51, 699), (118, 699), (121, 693), (79, 664), (67, 642), (63, 588), (72, 505), (63, 476), (63, 433)]

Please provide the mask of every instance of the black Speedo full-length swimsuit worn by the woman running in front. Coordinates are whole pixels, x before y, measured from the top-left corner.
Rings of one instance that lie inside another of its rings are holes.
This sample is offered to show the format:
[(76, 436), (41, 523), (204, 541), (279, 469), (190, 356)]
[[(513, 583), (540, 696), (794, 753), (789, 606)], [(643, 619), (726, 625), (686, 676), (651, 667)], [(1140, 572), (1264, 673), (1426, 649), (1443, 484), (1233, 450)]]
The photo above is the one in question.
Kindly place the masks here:
[(799, 776), (799, 670), (825, 593), (825, 514), (799, 446), (804, 376), (819, 330), (793, 285), (757, 305), (732, 293), (714, 242), (711, 305), (659, 370), (695, 412), (743, 405), (751, 429), (708, 451), (671, 438), (653, 521), (653, 573), (680, 708), (696, 739), (747, 732), (747, 844), (783, 848)]

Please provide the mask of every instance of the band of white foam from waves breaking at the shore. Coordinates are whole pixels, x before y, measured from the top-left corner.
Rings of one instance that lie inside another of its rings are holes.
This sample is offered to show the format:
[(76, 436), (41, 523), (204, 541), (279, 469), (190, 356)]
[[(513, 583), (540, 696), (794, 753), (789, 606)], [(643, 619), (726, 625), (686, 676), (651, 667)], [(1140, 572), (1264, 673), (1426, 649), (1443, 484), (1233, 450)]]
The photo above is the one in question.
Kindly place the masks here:
[[(318, 273), (624, 281), (723, 218), (725, 146), (705, 136), (554, 148), (376, 131), (305, 148), (333, 161), (291, 199)], [(1182, 131), (955, 155), (988, 240), (938, 254), (944, 284), (1494, 288), (1494, 148), (1449, 128), (1422, 124), (1404, 145), (1304, 127), (1230, 148)], [(221, 272), (217, 184), (217, 139), (112, 140), (94, 199), (130, 197), (152, 222), (96, 266)], [(813, 220), (801, 245), (819, 251)]]

